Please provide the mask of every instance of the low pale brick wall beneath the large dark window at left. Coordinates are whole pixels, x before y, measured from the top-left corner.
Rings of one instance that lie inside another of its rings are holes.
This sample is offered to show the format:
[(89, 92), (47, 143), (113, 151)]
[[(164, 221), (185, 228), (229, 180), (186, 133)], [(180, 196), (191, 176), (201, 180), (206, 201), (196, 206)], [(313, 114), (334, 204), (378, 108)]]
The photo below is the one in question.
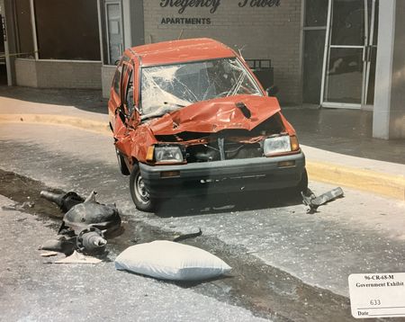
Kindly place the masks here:
[(15, 59), (17, 85), (40, 88), (101, 88), (101, 62)]

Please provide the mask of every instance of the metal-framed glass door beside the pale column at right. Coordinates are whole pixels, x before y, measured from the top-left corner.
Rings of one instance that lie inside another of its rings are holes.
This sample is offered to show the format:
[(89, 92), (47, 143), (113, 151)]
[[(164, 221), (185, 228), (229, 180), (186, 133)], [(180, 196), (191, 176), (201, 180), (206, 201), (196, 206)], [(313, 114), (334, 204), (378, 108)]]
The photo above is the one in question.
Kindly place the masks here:
[(374, 100), (375, 0), (330, 0), (321, 104), (357, 108)]

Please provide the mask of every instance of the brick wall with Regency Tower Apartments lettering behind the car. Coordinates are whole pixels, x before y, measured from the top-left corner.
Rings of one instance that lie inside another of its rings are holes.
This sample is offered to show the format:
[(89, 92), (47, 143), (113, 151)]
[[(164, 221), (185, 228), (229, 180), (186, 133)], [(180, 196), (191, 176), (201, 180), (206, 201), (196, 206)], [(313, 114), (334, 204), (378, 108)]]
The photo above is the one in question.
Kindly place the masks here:
[[(253, 0), (260, 2), (261, 0)], [(242, 50), (244, 58), (270, 58), (275, 84), (284, 103), (301, 103), (301, 0), (280, 0), (279, 6), (239, 7), (243, 0), (220, 0), (214, 13), (210, 7), (161, 7), (162, 0), (144, 1), (145, 42), (209, 37)], [(276, 2), (267, 0), (268, 3)], [(161, 23), (163, 18), (210, 18), (210, 24)]]

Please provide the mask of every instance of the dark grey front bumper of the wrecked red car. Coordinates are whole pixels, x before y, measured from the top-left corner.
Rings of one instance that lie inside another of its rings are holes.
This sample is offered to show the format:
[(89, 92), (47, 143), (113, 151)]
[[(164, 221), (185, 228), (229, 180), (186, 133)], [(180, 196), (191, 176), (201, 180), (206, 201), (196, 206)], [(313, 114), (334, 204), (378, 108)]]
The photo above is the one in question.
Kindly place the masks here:
[[(294, 165), (281, 166), (280, 162)], [(293, 187), (305, 169), (302, 152), (282, 157), (254, 157), (187, 165), (139, 164), (152, 198), (203, 195), (219, 192), (261, 191)], [(174, 172), (175, 176), (164, 176)], [(163, 175), (163, 176), (162, 176)]]

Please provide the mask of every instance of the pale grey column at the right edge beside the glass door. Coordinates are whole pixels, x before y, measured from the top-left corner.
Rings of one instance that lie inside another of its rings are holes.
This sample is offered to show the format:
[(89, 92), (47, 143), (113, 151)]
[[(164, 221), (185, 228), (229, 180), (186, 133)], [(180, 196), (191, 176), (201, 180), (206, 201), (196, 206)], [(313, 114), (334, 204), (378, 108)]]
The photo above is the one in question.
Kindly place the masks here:
[(405, 1), (380, 1), (373, 136), (405, 139)]

